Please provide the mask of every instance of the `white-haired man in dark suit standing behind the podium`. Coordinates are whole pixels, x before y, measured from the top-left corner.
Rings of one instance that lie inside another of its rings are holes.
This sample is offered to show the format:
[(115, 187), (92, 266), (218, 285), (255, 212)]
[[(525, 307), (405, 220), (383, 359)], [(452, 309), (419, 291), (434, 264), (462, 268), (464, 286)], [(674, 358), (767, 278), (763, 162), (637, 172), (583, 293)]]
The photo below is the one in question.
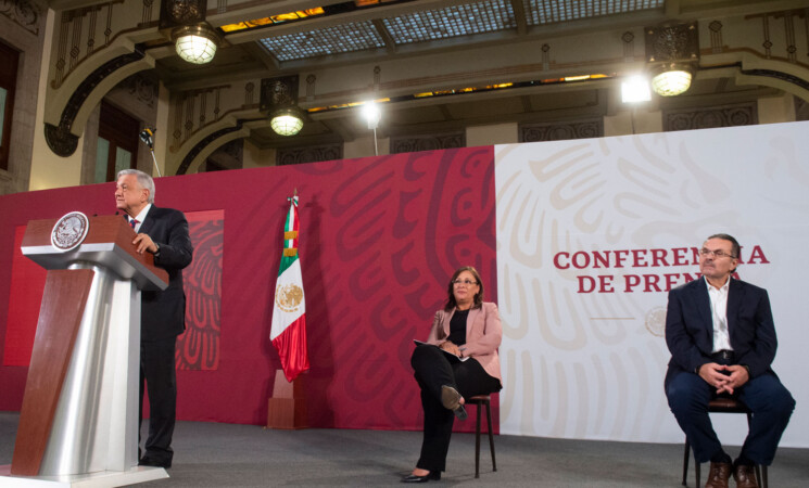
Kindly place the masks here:
[(182, 268), (191, 264), (193, 254), (188, 221), (179, 210), (154, 206), (154, 181), (136, 169), (118, 172), (115, 205), (137, 232), (132, 241), (137, 252), (153, 254), (154, 265), (168, 272), (166, 290), (142, 292), (140, 298), (140, 419), (146, 382), (150, 420), (139, 464), (170, 467), (177, 406), (175, 343), (186, 329)]

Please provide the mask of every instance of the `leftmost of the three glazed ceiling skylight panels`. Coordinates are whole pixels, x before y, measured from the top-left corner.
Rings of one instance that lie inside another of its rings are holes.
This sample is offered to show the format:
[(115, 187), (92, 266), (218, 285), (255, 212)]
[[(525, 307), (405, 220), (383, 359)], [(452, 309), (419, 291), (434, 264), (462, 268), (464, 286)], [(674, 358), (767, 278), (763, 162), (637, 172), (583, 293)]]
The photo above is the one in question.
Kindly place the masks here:
[(278, 61), (302, 60), (384, 47), (384, 41), (370, 22), (267, 37), (260, 42)]

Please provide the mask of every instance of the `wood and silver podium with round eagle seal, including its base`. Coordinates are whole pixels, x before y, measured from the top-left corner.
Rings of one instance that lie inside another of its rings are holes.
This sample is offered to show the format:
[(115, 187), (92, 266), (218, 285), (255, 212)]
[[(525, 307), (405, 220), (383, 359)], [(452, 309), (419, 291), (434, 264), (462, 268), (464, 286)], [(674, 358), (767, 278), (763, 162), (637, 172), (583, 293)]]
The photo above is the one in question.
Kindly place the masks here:
[[(121, 216), (33, 220), (22, 252), (48, 271), (14, 455), (2, 486), (122, 486), (138, 466), (140, 293), (168, 274)], [(75, 242), (77, 241), (77, 242)]]

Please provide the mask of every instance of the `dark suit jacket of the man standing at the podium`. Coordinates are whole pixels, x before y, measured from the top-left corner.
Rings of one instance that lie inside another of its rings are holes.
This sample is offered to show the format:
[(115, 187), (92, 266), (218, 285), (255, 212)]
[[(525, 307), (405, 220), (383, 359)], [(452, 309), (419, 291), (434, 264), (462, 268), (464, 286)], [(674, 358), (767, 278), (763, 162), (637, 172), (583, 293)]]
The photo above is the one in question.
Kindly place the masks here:
[(188, 220), (179, 210), (152, 204), (138, 232), (149, 234), (160, 245), (154, 265), (168, 272), (166, 290), (141, 294), (140, 339), (150, 342), (177, 336), (186, 329), (182, 268), (191, 264), (193, 255)]

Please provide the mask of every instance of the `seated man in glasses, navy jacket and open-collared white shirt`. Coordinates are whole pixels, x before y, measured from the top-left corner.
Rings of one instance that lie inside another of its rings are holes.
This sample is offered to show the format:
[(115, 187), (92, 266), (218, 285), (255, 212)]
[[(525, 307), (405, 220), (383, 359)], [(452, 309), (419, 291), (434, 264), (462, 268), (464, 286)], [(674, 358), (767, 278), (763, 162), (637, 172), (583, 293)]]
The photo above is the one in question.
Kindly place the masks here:
[[(669, 293), (666, 343), (671, 351), (666, 396), (696, 462), (710, 461), (706, 488), (757, 487), (754, 465), (770, 465), (795, 400), (770, 368), (778, 345), (767, 291), (731, 278), (740, 246), (728, 234), (699, 251), (703, 278)], [(732, 462), (708, 416), (708, 402), (733, 396), (751, 411), (742, 452)]]

